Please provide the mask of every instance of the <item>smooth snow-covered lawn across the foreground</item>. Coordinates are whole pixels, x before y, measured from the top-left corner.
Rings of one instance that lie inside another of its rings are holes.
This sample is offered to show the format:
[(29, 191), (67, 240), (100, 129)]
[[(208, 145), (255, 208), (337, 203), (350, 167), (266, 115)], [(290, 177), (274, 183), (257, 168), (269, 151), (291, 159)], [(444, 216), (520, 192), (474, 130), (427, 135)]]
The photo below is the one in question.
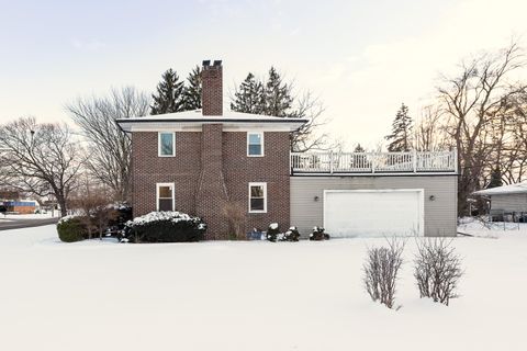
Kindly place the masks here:
[(527, 234), (460, 237), (461, 297), (396, 303), (361, 285), (366, 248), (325, 242), (61, 244), (0, 233), (0, 350), (526, 350)]

